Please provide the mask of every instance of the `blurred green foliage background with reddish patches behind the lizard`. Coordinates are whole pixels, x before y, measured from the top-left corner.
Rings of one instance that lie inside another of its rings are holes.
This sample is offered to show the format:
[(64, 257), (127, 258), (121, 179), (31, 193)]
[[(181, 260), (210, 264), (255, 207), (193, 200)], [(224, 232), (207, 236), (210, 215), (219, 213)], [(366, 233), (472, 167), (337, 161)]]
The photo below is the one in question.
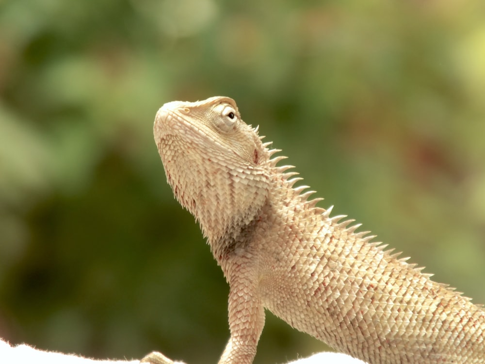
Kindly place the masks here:
[[(0, 0), (0, 337), (218, 360), (228, 287), (152, 136), (214, 95), (485, 303), (484, 1)], [(325, 348), (268, 314), (255, 363)]]

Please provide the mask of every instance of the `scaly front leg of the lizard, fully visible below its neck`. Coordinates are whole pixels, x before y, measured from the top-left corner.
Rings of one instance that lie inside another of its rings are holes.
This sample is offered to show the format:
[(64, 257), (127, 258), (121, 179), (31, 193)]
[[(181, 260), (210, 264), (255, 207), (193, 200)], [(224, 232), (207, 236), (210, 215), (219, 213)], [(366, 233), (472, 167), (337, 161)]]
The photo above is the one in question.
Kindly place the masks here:
[(229, 330), (231, 337), (219, 364), (251, 364), (264, 326), (264, 307), (258, 296), (251, 264), (239, 264), (228, 277)]

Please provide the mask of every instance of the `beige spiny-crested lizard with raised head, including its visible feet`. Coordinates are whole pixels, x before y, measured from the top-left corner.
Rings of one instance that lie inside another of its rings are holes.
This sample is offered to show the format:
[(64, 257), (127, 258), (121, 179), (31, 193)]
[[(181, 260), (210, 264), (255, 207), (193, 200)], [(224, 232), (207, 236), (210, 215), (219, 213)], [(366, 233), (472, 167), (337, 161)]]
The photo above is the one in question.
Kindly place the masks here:
[[(264, 308), (377, 363), (485, 363), (485, 312), (307, 200), (234, 100), (168, 102), (154, 136), (168, 183), (230, 286), (219, 363), (252, 363)], [(160, 353), (145, 362), (170, 363)]]

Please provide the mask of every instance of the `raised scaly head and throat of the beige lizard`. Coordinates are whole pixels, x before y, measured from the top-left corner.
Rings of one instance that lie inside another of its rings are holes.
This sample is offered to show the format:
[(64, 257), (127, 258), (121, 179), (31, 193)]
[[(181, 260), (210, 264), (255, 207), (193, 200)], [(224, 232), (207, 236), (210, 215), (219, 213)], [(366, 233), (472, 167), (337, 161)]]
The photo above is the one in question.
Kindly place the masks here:
[(168, 102), (154, 137), (175, 197), (209, 242), (256, 218), (268, 196), (270, 155), (233, 99)]

